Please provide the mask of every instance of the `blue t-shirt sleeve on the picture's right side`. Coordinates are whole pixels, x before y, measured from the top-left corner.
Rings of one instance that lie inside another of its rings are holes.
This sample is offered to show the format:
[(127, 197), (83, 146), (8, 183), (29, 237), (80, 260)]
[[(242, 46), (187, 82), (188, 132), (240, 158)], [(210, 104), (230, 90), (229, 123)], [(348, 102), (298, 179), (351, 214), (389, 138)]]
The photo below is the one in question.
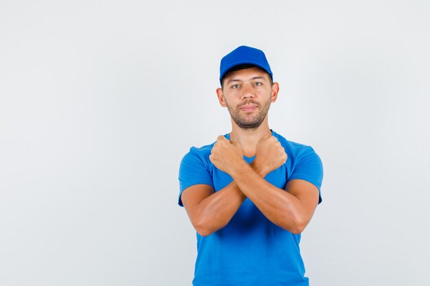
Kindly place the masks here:
[(291, 174), (288, 180), (301, 179), (315, 184), (319, 191), (319, 204), (322, 201), (321, 184), (323, 176), (324, 171), (321, 158), (319, 158), (312, 147), (303, 147), (299, 152), (299, 156), (297, 156), (297, 163), (295, 164), (293, 174)]

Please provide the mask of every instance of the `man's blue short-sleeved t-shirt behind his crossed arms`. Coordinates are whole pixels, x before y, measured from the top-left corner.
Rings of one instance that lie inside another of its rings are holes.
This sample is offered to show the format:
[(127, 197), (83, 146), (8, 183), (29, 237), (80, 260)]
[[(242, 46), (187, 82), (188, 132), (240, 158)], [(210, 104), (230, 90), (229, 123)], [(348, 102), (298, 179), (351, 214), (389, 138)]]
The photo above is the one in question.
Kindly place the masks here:
[[(293, 179), (321, 187), (323, 168), (312, 147), (294, 143), (273, 132), (288, 158), (286, 163), (264, 178), (280, 189)], [(225, 137), (229, 139), (229, 134)], [(192, 147), (179, 168), (179, 205), (183, 190), (194, 184), (208, 184), (214, 191), (231, 182), (229, 174), (217, 169), (209, 159), (214, 147)], [(251, 163), (255, 157), (245, 157)], [(321, 195), (319, 196), (321, 202)], [(269, 221), (248, 198), (230, 222), (202, 237), (197, 233), (197, 259), (194, 286), (307, 286), (304, 263), (299, 250), (300, 235)]]

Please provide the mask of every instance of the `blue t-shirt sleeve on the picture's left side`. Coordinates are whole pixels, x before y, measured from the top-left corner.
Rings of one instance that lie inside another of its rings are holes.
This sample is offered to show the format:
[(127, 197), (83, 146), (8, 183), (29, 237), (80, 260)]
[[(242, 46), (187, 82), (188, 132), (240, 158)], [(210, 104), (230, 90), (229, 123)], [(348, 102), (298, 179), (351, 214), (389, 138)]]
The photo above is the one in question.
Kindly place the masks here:
[(192, 147), (190, 152), (183, 156), (179, 166), (179, 206), (183, 206), (181, 200), (183, 190), (194, 184), (208, 184), (214, 187), (209, 165)]

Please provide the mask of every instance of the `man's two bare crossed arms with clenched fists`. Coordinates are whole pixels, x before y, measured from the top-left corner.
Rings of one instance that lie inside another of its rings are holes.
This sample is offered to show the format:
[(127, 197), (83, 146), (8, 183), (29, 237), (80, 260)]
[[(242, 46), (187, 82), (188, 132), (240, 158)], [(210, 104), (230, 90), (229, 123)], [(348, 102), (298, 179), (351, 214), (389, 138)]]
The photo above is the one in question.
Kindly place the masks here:
[(200, 235), (207, 236), (223, 228), (245, 198), (256, 204), (273, 224), (291, 233), (302, 233), (318, 204), (319, 192), (305, 180), (291, 180), (285, 190), (264, 180), (264, 176), (286, 161), (284, 148), (275, 137), (264, 137), (258, 142), (256, 159), (248, 165), (238, 143), (218, 136), (210, 160), (233, 181), (217, 192), (206, 184), (183, 191), (183, 205)]

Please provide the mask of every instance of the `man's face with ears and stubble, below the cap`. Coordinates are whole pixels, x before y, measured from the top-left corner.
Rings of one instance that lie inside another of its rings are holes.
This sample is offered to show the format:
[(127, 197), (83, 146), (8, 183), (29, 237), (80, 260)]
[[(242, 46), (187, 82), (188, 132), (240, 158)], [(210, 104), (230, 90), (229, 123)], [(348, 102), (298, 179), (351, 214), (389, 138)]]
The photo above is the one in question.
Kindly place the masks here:
[(255, 129), (266, 119), (271, 102), (275, 102), (278, 84), (273, 86), (262, 69), (242, 69), (223, 79), (223, 88), (217, 90), (218, 99), (240, 128)]

